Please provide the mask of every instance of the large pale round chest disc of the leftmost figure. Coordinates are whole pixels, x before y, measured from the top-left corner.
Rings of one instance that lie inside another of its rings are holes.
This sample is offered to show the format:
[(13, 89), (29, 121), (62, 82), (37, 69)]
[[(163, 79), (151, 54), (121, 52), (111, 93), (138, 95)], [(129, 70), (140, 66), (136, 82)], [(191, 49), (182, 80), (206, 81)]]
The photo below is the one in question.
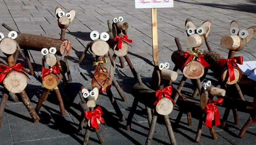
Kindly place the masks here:
[(27, 86), (27, 77), (17, 71), (11, 70), (3, 81), (4, 87), (11, 93), (20, 93)]

